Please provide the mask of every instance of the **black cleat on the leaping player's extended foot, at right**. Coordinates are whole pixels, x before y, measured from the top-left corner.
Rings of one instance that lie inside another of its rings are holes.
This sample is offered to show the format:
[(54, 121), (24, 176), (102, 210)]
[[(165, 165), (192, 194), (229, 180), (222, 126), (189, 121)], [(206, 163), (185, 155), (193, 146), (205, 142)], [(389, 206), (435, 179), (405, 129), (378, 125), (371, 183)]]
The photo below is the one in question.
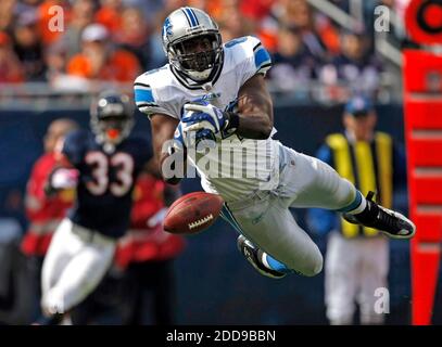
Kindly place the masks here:
[(367, 208), (357, 215), (343, 214), (350, 223), (362, 224), (383, 232), (392, 239), (411, 239), (416, 233), (416, 226), (405, 216), (388, 209), (372, 201), (374, 192), (368, 192)]

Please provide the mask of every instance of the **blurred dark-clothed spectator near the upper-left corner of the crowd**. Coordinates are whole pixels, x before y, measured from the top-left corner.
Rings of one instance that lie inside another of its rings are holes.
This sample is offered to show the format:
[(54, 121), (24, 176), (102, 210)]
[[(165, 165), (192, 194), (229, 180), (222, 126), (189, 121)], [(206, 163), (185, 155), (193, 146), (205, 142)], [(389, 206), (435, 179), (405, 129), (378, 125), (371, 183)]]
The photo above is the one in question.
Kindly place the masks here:
[(18, 16), (14, 26), (14, 51), (22, 62), (25, 78), (29, 81), (43, 80), (46, 72), (37, 21), (37, 14), (28, 11)]

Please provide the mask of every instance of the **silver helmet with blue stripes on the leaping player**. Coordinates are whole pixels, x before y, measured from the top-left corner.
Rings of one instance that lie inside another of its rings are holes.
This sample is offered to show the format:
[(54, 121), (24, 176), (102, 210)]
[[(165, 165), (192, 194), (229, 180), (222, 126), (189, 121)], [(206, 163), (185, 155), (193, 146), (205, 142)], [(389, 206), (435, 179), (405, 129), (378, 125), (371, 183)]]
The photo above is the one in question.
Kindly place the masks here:
[(181, 77), (198, 85), (211, 82), (223, 66), (223, 41), (218, 25), (204, 11), (180, 8), (163, 25), (163, 49)]

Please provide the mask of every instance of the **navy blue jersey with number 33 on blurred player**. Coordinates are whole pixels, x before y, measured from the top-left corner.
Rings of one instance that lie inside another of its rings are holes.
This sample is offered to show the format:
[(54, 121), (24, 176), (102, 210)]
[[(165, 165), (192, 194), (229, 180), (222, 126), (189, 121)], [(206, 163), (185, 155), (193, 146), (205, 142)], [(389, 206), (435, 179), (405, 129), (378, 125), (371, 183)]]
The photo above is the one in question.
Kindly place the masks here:
[(151, 144), (128, 138), (108, 154), (91, 132), (79, 130), (66, 137), (63, 154), (80, 172), (71, 220), (110, 237), (122, 236), (129, 227), (135, 181), (152, 157)]

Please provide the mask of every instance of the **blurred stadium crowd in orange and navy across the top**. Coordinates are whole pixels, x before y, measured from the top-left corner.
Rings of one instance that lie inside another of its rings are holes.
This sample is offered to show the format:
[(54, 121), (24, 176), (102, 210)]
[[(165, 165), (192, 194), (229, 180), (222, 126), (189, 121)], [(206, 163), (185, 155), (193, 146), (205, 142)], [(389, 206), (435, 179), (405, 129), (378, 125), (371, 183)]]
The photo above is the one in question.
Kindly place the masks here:
[[(350, 11), (349, 0), (330, 1)], [(225, 42), (257, 36), (273, 54), (269, 77), (282, 90), (317, 80), (372, 91), (382, 70), (370, 39), (374, 9), (403, 2), (363, 2), (365, 25), (343, 31), (306, 0), (3, 0), (0, 82), (48, 81), (74, 90), (97, 80), (132, 82), (166, 62), (162, 23), (189, 5), (219, 23)]]

